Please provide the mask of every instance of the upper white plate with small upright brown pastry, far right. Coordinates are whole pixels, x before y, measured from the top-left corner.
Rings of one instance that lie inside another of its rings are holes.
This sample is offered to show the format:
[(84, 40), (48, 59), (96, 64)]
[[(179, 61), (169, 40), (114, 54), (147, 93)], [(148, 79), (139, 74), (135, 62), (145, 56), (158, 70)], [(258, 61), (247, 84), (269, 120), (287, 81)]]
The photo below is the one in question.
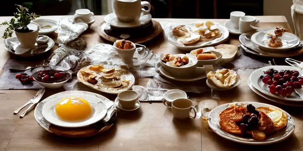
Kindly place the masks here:
[(300, 38), (287, 32), (284, 27), (276, 27), (274, 30), (257, 32), (251, 36), (251, 41), (264, 51), (287, 51), (300, 44)]

